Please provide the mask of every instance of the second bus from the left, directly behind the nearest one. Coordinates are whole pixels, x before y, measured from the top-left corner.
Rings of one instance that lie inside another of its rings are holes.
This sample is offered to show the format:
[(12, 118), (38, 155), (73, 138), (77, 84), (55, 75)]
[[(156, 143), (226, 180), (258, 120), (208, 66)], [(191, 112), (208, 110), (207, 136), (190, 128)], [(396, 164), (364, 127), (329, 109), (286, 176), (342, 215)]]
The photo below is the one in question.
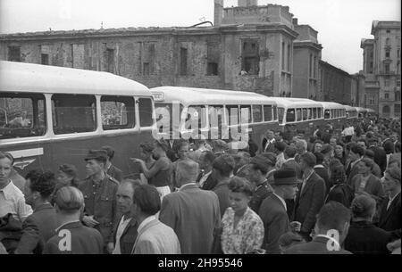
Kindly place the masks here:
[[(155, 100), (156, 122), (160, 122), (166, 114), (173, 117), (170, 123), (165, 124), (164, 130), (158, 125), (161, 134), (170, 139), (188, 132), (189, 127), (185, 128), (184, 122), (180, 128), (172, 124), (172, 120), (177, 120), (179, 116), (185, 121), (197, 117), (197, 128), (191, 126), (189, 129), (191, 138), (204, 136), (204, 139), (210, 140), (232, 140), (235, 138), (231, 134), (232, 129), (240, 132), (240, 126), (245, 126), (252, 130), (250, 135), (255, 142), (261, 143), (266, 129), (278, 128), (277, 105), (265, 95), (194, 87), (155, 87), (151, 88), (151, 93)], [(229, 135), (222, 129), (225, 126), (230, 130)], [(194, 129), (197, 129), (196, 134)], [(235, 139), (238, 140), (239, 136)]]

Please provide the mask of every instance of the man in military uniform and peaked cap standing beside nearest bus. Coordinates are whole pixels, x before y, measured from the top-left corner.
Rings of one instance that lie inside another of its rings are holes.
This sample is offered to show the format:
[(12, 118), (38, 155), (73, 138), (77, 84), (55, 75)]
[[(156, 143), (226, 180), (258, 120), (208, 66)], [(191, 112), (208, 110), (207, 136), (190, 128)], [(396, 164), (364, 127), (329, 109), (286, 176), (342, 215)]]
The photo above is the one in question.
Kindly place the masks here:
[(79, 185), (84, 195), (85, 211), (82, 222), (96, 228), (104, 238), (104, 251), (113, 251), (113, 225), (116, 223), (116, 193), (119, 182), (105, 172), (107, 152), (90, 150), (86, 161), (87, 178)]

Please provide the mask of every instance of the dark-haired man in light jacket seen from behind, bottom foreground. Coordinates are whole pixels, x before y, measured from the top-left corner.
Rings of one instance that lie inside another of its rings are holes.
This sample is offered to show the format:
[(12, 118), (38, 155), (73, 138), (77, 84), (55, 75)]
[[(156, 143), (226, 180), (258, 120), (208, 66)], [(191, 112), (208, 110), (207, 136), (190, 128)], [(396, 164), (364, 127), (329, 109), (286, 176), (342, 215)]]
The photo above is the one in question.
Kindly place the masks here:
[(155, 186), (139, 185), (133, 199), (139, 223), (133, 254), (180, 254), (179, 239), (172, 227), (155, 218), (161, 209), (161, 198)]

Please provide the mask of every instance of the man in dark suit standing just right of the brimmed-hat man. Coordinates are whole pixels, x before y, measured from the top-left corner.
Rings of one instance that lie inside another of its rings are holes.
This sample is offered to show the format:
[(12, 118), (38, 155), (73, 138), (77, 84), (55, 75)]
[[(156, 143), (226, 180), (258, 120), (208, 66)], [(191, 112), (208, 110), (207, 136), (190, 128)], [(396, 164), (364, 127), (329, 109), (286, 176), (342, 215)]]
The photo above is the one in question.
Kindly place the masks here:
[(306, 152), (300, 158), (300, 167), (304, 169), (304, 178), (295, 202), (294, 220), (302, 223), (300, 235), (306, 241), (310, 240), (315, 216), (322, 208), (326, 191), (323, 179), (314, 172), (315, 161), (315, 156), (311, 152)]

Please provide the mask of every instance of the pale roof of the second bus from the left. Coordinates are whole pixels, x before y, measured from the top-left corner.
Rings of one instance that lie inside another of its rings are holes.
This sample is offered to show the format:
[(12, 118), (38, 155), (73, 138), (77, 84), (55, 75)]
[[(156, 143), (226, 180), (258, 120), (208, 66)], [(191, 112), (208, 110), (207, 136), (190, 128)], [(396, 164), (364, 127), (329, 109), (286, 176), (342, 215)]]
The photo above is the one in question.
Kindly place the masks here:
[(183, 105), (220, 105), (220, 104), (272, 104), (272, 97), (252, 92), (204, 89), (194, 87), (154, 87), (151, 88), (155, 103), (179, 101)]

